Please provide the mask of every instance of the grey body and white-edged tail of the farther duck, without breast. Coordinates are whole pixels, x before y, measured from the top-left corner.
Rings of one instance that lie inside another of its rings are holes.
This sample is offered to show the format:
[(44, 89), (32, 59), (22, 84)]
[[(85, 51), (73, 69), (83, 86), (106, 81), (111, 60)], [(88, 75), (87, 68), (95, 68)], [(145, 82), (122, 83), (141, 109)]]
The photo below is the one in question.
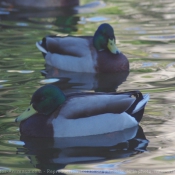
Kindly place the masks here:
[(49, 36), (36, 46), (51, 66), (73, 72), (96, 72), (97, 52), (92, 37)]

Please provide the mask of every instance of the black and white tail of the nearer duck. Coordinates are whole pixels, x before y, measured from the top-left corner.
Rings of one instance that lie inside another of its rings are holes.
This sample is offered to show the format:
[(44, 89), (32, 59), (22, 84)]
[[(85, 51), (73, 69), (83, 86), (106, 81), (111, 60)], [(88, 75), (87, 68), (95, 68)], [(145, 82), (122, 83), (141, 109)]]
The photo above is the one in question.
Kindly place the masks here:
[(144, 107), (149, 100), (149, 94), (142, 95), (141, 92), (137, 91), (133, 95), (136, 97), (136, 100), (126, 112), (134, 117), (137, 122), (140, 122), (143, 117)]

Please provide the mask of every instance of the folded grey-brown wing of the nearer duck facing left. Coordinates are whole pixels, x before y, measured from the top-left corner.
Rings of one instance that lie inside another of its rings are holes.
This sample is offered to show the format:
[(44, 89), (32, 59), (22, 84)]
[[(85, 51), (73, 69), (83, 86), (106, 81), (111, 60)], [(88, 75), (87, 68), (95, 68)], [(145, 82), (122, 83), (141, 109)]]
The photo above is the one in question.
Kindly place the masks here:
[(129, 95), (99, 94), (70, 97), (62, 106), (59, 115), (67, 119), (77, 119), (106, 113), (120, 114), (134, 101), (135, 99)]

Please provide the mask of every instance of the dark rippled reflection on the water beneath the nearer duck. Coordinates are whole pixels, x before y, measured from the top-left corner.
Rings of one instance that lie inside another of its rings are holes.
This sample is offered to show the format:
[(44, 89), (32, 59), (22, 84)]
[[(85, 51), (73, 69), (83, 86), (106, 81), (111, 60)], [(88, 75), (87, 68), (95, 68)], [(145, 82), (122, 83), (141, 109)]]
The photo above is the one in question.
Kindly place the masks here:
[(64, 169), (68, 164), (100, 162), (127, 158), (146, 151), (148, 140), (140, 126), (110, 134), (73, 138), (31, 138), (21, 136), (25, 153), (34, 167), (46, 174), (48, 170)]

